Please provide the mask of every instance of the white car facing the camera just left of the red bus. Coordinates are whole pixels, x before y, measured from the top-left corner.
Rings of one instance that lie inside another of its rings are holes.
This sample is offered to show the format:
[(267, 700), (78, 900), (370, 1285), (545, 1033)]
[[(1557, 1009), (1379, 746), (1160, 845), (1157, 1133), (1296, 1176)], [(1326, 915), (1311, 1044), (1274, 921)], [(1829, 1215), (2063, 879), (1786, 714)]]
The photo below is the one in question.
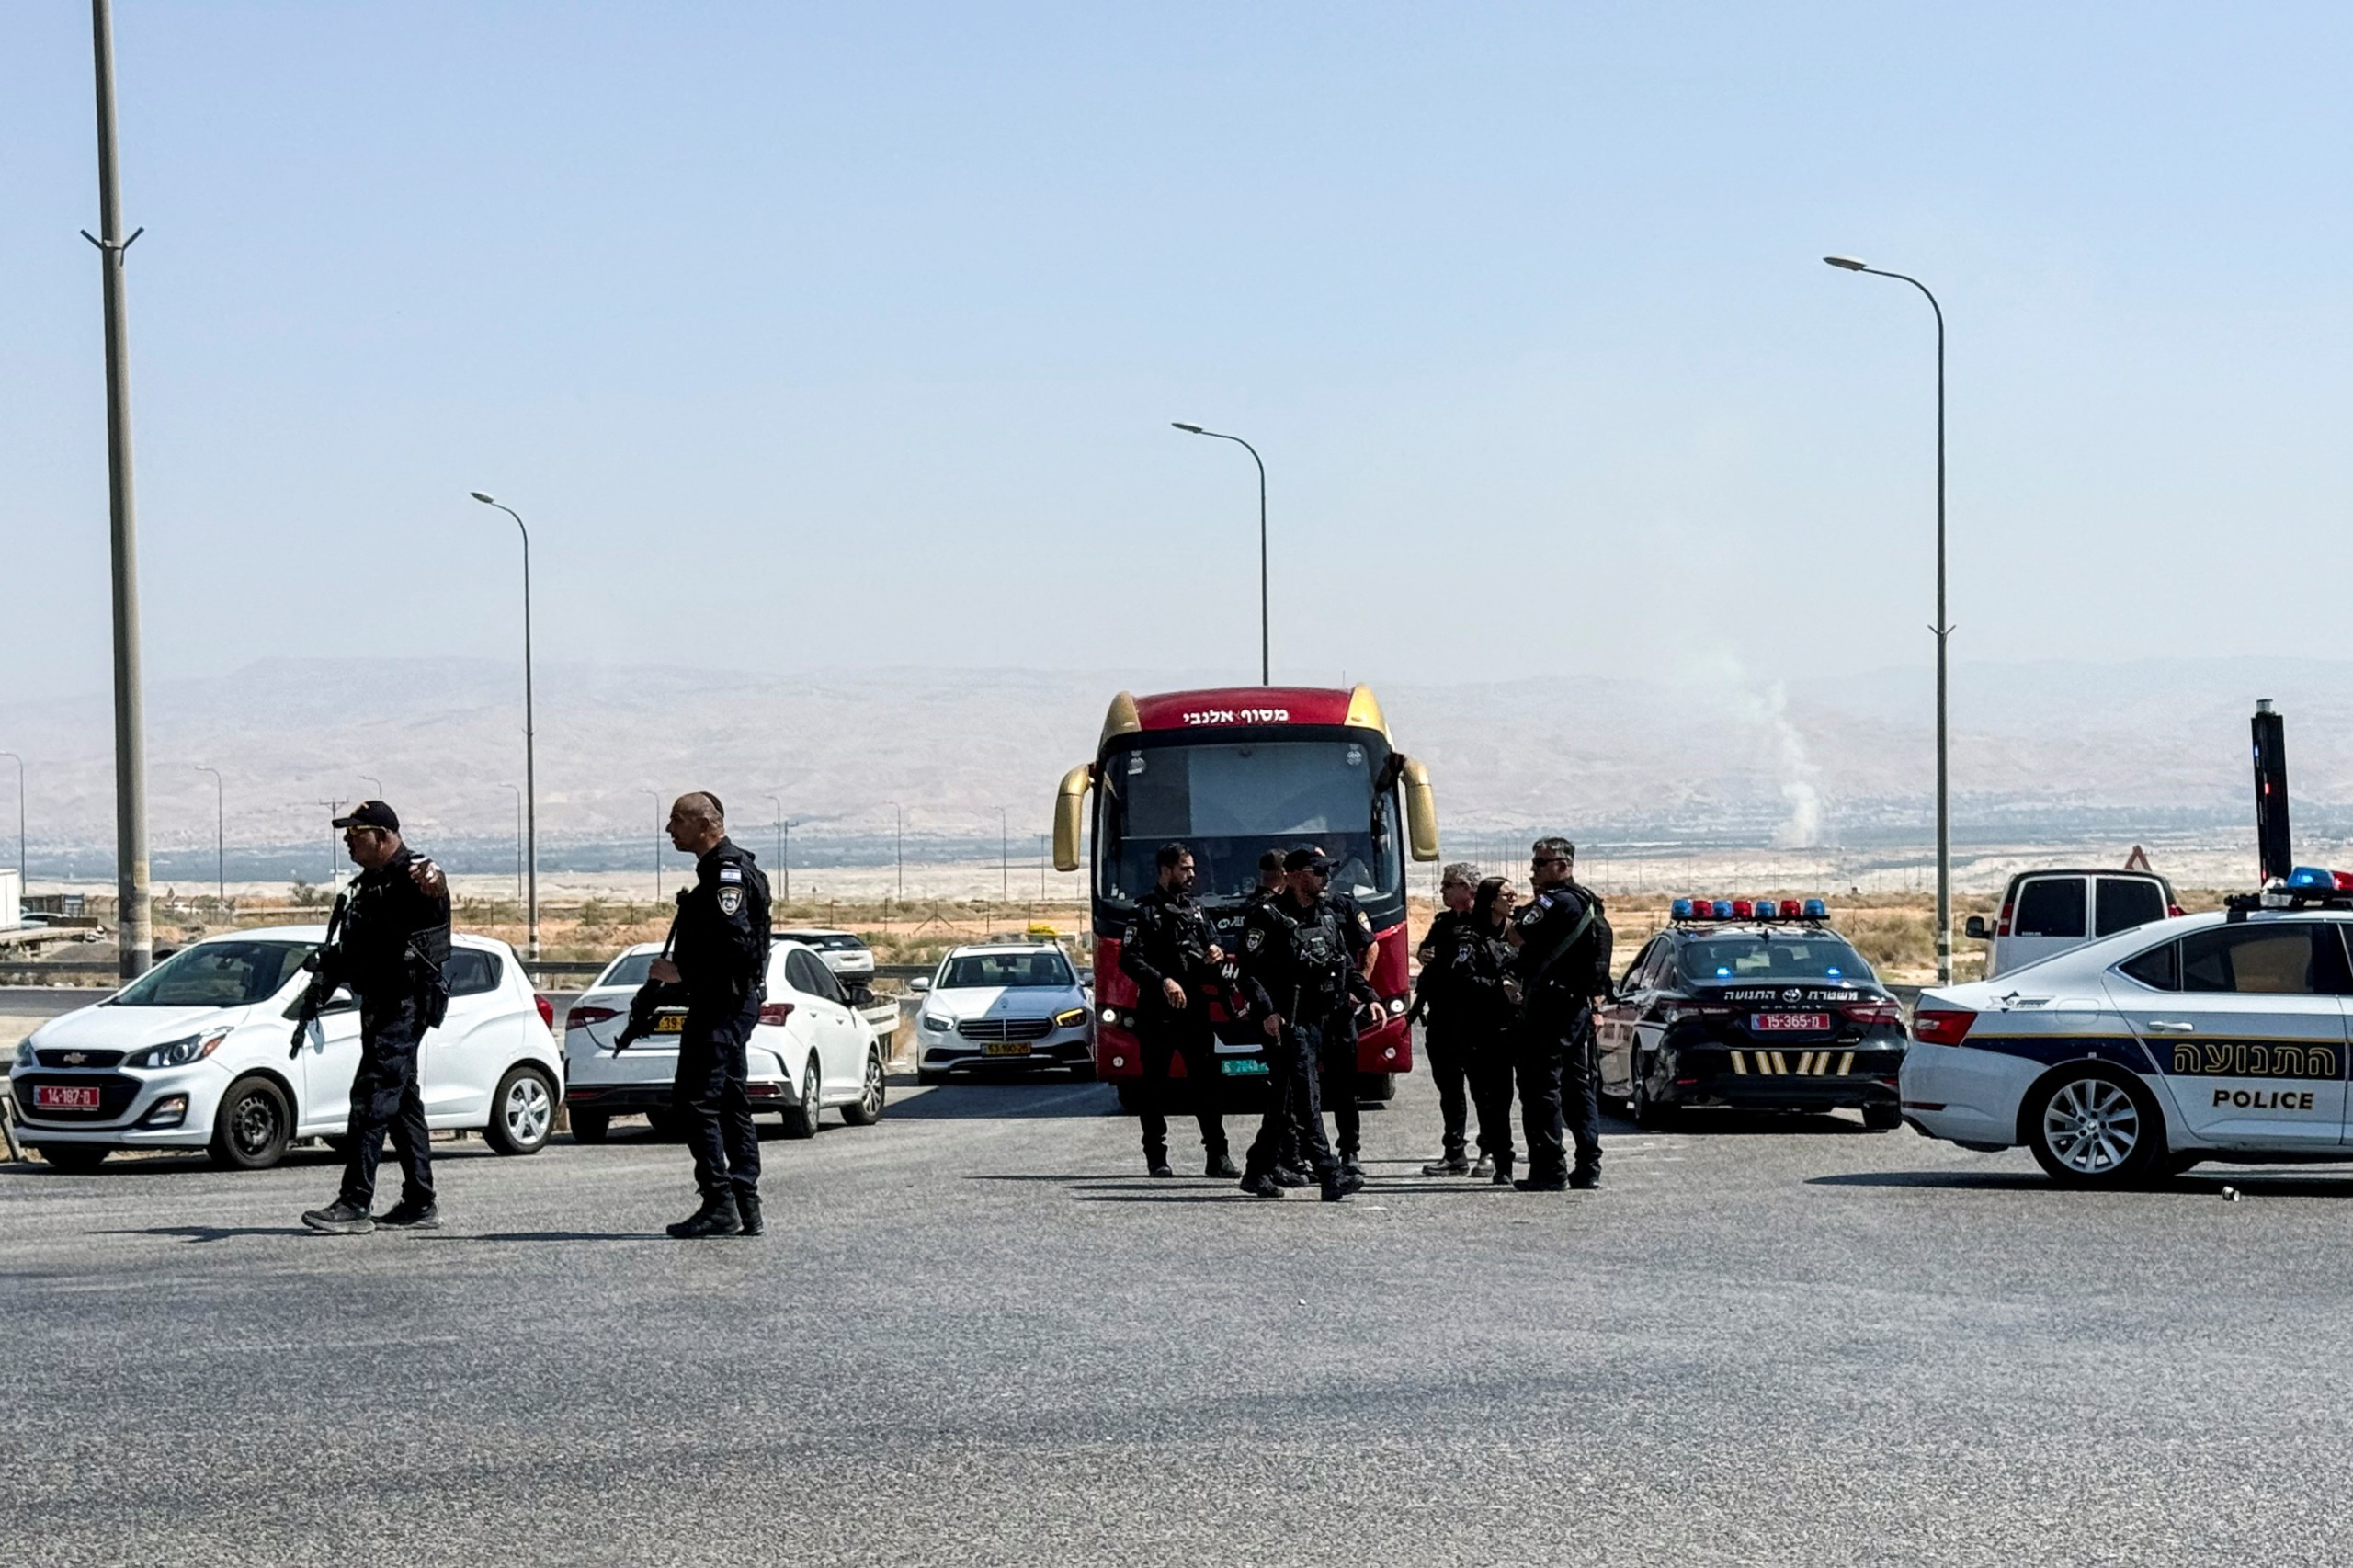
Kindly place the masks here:
[(998, 1069), (1094, 1076), (1094, 1010), (1052, 942), (960, 946), (915, 991), (918, 1083)]

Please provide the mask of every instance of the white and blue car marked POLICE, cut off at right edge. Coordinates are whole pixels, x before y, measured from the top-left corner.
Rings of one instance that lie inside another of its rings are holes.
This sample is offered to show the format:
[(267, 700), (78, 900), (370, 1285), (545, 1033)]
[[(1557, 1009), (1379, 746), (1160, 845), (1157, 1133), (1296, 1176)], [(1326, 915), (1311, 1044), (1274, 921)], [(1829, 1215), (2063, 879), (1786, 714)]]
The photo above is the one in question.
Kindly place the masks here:
[(1962, 1149), (2024, 1144), (2071, 1187), (2353, 1158), (2348, 939), (2353, 876), (2301, 866), (2221, 913), (1922, 991), (1904, 1116)]

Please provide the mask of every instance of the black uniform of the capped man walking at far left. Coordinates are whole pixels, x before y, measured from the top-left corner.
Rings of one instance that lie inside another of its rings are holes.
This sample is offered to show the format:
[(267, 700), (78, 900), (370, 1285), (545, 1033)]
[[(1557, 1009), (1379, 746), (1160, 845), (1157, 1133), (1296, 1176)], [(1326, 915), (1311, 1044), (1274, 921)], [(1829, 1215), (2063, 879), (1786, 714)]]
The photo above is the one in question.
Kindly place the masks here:
[(381, 866), (351, 878), (336, 944), (318, 956), (320, 977), (351, 986), (360, 1001), (360, 1069), (351, 1076), (344, 1123), (341, 1201), (365, 1210), (376, 1198), (384, 1132), (400, 1158), (400, 1201), (433, 1203), (433, 1154), (426, 1104), (416, 1092), (416, 1048), (449, 1008), (442, 963), (449, 958), (449, 895), (428, 895), (409, 876), (416, 852), (393, 850)]

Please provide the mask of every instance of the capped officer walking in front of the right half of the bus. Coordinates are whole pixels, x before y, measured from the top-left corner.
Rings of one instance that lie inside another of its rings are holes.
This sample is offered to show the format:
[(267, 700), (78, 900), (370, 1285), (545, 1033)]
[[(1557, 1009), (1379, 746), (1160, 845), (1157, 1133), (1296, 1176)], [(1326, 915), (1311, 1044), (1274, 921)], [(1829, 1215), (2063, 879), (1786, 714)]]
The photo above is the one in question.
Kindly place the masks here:
[(1273, 1074), (1266, 1118), (1245, 1161), (1242, 1191), (1282, 1196), (1273, 1172), (1289, 1135), (1289, 1107), (1297, 1104), (1306, 1111), (1301, 1154), (1322, 1182), (1325, 1203), (1339, 1203), (1365, 1187), (1365, 1177), (1341, 1170), (1325, 1142), (1315, 1062), (1334, 1012), (1348, 1005), (1348, 937), (1339, 911), (1325, 899), (1332, 862), (1318, 850), (1292, 850), (1282, 869), (1289, 883), (1285, 892), (1252, 904), (1242, 916), (1242, 991), (1252, 1017), (1261, 1019)]

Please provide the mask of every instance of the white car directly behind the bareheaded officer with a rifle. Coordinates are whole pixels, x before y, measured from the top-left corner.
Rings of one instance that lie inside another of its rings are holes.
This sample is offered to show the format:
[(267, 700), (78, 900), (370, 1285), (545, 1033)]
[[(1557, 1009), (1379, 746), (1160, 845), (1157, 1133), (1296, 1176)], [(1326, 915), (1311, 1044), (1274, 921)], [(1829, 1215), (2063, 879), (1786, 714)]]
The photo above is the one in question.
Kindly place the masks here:
[[(678, 1031), (685, 1008), (666, 1008), (654, 1034), (614, 1055), (628, 1024), (628, 1003), (645, 984), (659, 942), (624, 949), (574, 998), (565, 1015), (565, 1109), (572, 1137), (605, 1142), (614, 1116), (645, 1116), (671, 1130), (671, 1078), (678, 1076)], [(767, 954), (767, 1001), (744, 1050), (744, 1088), (753, 1111), (781, 1111), (786, 1137), (812, 1137), (826, 1107), (842, 1121), (871, 1128), (882, 1121), (882, 1045), (842, 996), (842, 984), (800, 942), (776, 942)]]

